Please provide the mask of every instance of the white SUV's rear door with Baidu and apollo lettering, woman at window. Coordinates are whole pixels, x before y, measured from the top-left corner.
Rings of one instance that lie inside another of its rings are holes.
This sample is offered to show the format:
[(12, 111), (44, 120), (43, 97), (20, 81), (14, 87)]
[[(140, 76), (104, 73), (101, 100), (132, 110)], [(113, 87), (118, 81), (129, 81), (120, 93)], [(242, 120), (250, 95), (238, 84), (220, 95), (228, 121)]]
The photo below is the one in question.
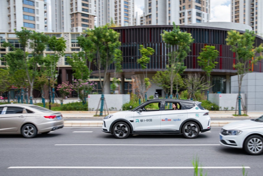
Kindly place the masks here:
[[(173, 103), (177, 104), (178, 110), (172, 109)], [(187, 119), (187, 113), (179, 102), (165, 102), (165, 109), (161, 115), (161, 132), (179, 133), (181, 123)]]

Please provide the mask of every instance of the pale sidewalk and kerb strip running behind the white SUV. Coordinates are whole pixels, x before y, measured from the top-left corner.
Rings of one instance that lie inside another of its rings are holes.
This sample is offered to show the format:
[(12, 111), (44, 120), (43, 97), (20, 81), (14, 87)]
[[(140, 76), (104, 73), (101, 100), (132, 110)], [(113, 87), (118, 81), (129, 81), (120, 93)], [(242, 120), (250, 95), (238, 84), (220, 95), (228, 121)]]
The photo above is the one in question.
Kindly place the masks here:
[[(109, 114), (112, 114), (117, 111), (109, 111)], [(94, 117), (96, 111), (61, 111), (64, 118), (65, 127), (102, 127), (102, 119), (104, 117)], [(99, 115), (100, 112), (97, 112)], [(243, 111), (242, 111), (243, 113)], [(103, 115), (105, 112), (103, 112)], [(108, 114), (108, 113), (106, 113)], [(243, 117), (235, 117), (233, 116), (235, 111), (209, 111), (209, 115), (211, 117), (211, 126), (218, 127), (224, 126), (225, 124), (231, 123), (233, 121), (238, 121), (242, 119), (255, 119), (263, 115), (263, 112), (248, 112), (248, 116)], [(83, 118), (83, 120), (67, 120), (67, 118)], [(229, 120), (221, 120), (221, 119), (229, 119)], [(96, 120), (93, 120), (96, 119)], [(98, 120), (99, 119), (99, 120)], [(216, 119), (216, 120), (215, 120)]]

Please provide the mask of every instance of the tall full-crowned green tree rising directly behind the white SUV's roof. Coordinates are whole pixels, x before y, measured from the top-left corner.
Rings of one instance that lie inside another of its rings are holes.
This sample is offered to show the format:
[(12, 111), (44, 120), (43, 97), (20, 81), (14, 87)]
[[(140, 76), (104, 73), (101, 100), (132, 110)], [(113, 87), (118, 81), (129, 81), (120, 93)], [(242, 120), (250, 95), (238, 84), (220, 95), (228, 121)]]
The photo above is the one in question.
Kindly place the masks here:
[(181, 32), (179, 26), (176, 27), (175, 22), (173, 22), (173, 30), (170, 32), (163, 30), (161, 36), (170, 51), (166, 68), (170, 75), (170, 98), (172, 98), (174, 78), (179, 73), (184, 59), (191, 51), (190, 45), (194, 39), (192, 39), (190, 33)]

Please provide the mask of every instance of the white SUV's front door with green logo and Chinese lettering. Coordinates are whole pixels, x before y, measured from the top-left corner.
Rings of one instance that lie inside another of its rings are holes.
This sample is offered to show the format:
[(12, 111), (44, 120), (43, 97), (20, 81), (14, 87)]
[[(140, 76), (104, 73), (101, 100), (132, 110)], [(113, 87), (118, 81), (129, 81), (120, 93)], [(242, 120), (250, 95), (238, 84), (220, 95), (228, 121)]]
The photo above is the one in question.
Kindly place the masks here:
[(161, 132), (161, 102), (145, 104), (143, 111), (134, 112), (134, 130), (136, 133), (160, 133)]

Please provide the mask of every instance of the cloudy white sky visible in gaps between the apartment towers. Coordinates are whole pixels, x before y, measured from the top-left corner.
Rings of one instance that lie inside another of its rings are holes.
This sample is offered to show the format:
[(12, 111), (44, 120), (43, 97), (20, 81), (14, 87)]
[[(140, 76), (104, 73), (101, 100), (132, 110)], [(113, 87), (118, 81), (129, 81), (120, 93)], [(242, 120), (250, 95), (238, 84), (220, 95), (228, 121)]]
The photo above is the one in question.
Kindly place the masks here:
[[(135, 11), (143, 14), (144, 0), (134, 0)], [(230, 22), (230, 0), (210, 0), (210, 22)]]

